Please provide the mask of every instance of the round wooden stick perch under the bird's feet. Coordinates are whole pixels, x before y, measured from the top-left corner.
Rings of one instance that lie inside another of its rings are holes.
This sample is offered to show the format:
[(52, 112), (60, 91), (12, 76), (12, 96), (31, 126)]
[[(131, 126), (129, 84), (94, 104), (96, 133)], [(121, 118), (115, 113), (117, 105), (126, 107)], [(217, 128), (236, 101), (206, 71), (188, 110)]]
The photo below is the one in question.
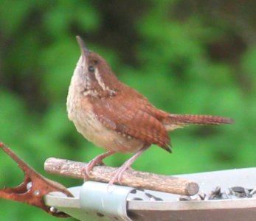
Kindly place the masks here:
[[(83, 170), (85, 166), (85, 163), (58, 158), (48, 158), (44, 163), (46, 172), (78, 179), (84, 178)], [(115, 169), (117, 168), (110, 166), (94, 166), (94, 169), (92, 169), (90, 173), (89, 180), (108, 182)], [(197, 194), (199, 190), (197, 183), (184, 178), (156, 175), (149, 172), (139, 172), (133, 169), (128, 169), (122, 174), (122, 185), (188, 196)]]

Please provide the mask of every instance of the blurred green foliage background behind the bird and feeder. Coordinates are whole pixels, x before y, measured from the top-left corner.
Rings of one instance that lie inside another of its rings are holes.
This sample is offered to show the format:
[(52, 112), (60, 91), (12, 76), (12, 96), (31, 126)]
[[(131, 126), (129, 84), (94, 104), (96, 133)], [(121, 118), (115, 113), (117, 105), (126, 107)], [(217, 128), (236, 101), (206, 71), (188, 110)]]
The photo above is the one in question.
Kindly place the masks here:
[[(89, 161), (105, 151), (67, 118), (75, 35), (156, 107), (235, 119), (175, 130), (173, 154), (152, 146), (134, 169), (175, 175), (256, 166), (256, 1), (3, 0), (0, 27), (0, 140), (48, 178), (80, 185), (47, 175), (46, 158)], [(0, 187), (20, 183), (22, 172), (3, 152), (0, 162)], [(58, 220), (2, 199), (0, 208), (1, 220)]]

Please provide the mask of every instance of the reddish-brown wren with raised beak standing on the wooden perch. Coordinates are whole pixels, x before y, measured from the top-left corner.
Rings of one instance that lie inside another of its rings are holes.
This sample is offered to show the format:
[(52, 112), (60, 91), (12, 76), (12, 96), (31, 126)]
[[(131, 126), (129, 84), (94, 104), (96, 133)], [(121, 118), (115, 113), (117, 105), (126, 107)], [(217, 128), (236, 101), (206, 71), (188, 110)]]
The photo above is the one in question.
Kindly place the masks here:
[(81, 55), (67, 97), (67, 112), (77, 131), (107, 152), (86, 166), (86, 175), (115, 152), (135, 153), (113, 175), (108, 185), (121, 183), (122, 172), (156, 144), (171, 152), (167, 131), (187, 124), (231, 124), (232, 119), (211, 115), (173, 114), (154, 107), (148, 99), (117, 79), (103, 57), (86, 48), (77, 36)]

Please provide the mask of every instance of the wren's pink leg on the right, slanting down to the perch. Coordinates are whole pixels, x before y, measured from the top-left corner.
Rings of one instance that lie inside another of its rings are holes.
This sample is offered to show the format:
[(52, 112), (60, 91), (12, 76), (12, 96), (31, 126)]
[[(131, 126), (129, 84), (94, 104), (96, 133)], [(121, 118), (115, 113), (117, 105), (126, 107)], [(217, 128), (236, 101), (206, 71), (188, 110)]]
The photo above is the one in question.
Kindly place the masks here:
[(118, 183), (121, 183), (122, 173), (125, 172), (125, 170), (129, 169), (131, 164), (133, 164), (134, 161), (136, 160), (136, 158), (138, 158), (139, 155), (142, 154), (142, 152), (145, 152), (145, 150), (148, 150), (148, 147), (150, 147), (148, 144), (143, 146), (138, 152), (136, 152), (131, 158), (129, 158), (128, 161), (125, 161), (125, 163), (122, 164), (122, 166), (120, 166), (120, 168), (118, 168), (114, 172), (114, 176), (109, 181), (108, 186), (113, 185), (113, 183), (115, 183), (116, 181), (118, 181)]

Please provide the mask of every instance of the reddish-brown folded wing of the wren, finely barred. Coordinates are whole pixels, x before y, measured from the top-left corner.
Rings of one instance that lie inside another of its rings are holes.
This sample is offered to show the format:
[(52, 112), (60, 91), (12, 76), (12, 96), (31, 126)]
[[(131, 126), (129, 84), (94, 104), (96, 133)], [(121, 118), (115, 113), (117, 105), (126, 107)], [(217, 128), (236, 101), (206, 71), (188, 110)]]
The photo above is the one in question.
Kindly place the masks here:
[(150, 113), (147, 105), (150, 105), (144, 97), (136, 97), (126, 94), (114, 98), (95, 98), (94, 113), (97, 119), (111, 130), (121, 133), (123, 136), (144, 141), (146, 144), (157, 144), (170, 152), (170, 138), (167, 130)]

